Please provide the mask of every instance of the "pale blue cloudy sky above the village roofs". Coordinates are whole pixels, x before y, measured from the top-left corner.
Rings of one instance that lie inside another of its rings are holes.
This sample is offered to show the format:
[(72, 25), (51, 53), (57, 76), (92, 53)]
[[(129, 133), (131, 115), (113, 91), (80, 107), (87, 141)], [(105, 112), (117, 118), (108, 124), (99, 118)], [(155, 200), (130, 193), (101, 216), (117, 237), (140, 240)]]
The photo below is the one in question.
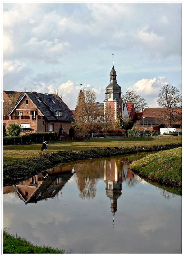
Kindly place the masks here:
[(122, 93), (149, 108), (181, 91), (181, 3), (3, 4), (3, 90), (59, 90), (74, 110), (82, 84), (103, 102), (113, 54)]

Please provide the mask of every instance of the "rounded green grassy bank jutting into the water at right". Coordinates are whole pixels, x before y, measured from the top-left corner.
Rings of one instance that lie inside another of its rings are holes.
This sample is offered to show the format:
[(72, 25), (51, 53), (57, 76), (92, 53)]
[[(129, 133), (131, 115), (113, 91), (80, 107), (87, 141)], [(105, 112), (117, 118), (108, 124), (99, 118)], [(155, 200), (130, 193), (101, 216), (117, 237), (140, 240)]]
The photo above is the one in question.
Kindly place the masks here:
[(181, 147), (148, 155), (129, 168), (148, 180), (181, 188)]

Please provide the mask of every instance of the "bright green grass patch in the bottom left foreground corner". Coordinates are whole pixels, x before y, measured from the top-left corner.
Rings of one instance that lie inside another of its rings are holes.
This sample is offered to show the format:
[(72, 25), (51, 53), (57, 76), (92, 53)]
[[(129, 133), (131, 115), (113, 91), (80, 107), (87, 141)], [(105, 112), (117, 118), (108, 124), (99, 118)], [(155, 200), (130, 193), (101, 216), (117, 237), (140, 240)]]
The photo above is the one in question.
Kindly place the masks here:
[(13, 236), (3, 231), (3, 253), (64, 253), (51, 246), (35, 246), (20, 236)]

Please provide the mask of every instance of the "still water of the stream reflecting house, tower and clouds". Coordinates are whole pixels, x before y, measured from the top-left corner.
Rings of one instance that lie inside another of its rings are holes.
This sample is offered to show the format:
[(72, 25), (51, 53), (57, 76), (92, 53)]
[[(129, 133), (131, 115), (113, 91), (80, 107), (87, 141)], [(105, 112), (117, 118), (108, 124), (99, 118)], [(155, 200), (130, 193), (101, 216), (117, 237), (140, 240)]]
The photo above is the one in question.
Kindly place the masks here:
[(142, 156), (57, 165), (4, 186), (3, 227), (65, 253), (181, 253), (181, 196), (128, 169)]

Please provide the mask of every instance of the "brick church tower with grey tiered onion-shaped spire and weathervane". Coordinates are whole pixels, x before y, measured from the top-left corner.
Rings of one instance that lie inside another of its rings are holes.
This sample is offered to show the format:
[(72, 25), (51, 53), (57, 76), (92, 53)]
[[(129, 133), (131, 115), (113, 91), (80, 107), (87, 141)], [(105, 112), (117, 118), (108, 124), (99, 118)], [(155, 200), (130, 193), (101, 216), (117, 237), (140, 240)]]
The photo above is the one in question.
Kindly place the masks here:
[[(112, 55), (112, 59), (113, 65), (110, 72), (110, 84), (105, 88), (104, 112), (107, 109), (111, 109), (116, 120), (120, 113), (123, 115), (123, 100), (121, 99), (121, 87), (117, 84), (117, 74), (114, 69), (114, 54)], [(111, 117), (110, 115), (109, 118)]]

